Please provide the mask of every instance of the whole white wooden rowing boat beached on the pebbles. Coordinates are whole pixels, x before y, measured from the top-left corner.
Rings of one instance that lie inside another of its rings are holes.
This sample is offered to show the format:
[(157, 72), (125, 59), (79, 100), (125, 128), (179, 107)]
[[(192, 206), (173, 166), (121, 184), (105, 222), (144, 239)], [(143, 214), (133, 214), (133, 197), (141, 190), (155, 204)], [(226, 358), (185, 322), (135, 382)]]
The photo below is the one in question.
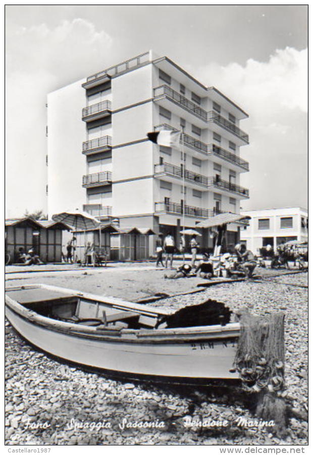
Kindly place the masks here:
[(239, 377), (233, 367), (239, 323), (188, 327), (185, 317), (175, 327), (167, 310), (45, 284), (8, 287), (5, 307), (30, 343), (88, 368), (185, 383)]

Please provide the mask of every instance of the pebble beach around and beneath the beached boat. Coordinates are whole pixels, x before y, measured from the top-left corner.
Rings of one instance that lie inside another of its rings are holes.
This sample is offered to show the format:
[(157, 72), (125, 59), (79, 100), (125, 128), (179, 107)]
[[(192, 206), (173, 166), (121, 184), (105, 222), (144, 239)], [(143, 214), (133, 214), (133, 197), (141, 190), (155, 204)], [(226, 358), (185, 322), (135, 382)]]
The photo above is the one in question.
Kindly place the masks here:
[[(116, 381), (47, 357), (6, 322), (6, 444), (306, 444), (307, 289), (297, 285), (307, 285), (307, 273), (221, 284), (154, 304), (178, 309), (214, 298), (233, 311), (285, 312), (287, 399), (298, 414), (284, 439), (265, 427), (238, 426), (240, 417), (253, 420), (243, 392)], [(188, 419), (228, 425), (188, 427)]]

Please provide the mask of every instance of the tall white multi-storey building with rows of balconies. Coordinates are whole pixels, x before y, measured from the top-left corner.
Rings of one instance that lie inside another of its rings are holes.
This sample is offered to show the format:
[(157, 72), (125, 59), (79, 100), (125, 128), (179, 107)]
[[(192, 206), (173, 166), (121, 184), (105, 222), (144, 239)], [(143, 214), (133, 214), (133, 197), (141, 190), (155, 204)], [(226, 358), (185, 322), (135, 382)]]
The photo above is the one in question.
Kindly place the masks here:
[[(249, 139), (239, 122), (247, 117), (215, 87), (151, 51), (51, 92), (48, 214), (79, 208), (177, 239), (183, 225), (239, 213), (240, 199), (249, 197), (240, 186), (249, 170), (240, 146)], [(147, 139), (161, 129), (183, 130), (183, 153)], [(229, 242), (238, 235), (231, 225)], [(210, 242), (203, 232), (202, 246)]]

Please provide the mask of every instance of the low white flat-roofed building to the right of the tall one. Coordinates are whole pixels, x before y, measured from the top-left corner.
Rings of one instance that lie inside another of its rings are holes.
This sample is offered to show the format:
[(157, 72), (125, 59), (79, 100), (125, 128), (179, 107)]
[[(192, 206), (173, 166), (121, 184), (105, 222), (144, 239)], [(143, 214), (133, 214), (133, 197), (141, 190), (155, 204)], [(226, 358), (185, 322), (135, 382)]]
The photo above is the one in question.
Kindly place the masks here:
[(240, 241), (254, 254), (259, 248), (277, 245), (289, 240), (307, 241), (308, 217), (307, 210), (300, 207), (284, 209), (250, 210), (242, 215), (251, 217), (249, 226), (240, 230)]

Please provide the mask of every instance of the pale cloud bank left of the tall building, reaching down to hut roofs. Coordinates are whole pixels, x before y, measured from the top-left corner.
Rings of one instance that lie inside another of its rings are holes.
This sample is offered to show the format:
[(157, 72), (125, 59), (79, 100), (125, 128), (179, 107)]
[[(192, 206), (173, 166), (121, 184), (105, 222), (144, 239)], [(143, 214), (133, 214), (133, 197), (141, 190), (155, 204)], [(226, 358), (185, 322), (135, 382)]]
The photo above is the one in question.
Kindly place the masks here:
[(6, 210), (21, 216), (46, 212), (47, 93), (101, 69), (113, 41), (79, 18), (54, 28), (7, 23), (6, 41)]

